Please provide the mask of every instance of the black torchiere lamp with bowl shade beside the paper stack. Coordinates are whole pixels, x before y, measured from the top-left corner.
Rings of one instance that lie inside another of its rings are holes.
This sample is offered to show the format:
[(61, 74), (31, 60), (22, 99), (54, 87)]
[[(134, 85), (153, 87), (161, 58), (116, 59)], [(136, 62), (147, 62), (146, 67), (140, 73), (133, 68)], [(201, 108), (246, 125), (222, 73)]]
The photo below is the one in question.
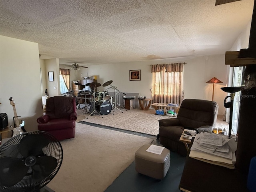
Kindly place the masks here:
[[(221, 87), (221, 89), (224, 92), (230, 93), (230, 96), (226, 96), (226, 98), (224, 99), (224, 107), (225, 108), (230, 108), (228, 138), (231, 138), (234, 97), (235, 97), (236, 92), (242, 90), (243, 87), (244, 86), (239, 86), (239, 87)], [(227, 98), (229, 98), (229, 97), (230, 97), (230, 101), (226, 102)]]

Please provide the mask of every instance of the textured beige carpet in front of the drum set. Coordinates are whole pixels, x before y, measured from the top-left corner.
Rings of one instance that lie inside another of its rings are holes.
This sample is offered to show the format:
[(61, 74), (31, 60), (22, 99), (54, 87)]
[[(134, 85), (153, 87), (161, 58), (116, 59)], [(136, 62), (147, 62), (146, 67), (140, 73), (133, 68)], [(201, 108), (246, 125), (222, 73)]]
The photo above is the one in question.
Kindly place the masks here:
[[(132, 110), (122, 109), (122, 111), (123, 113), (119, 110), (112, 111), (110, 114), (104, 116), (100, 116), (98, 113), (91, 116), (84, 114), (85, 118), (82, 121), (156, 136), (159, 129), (158, 120), (173, 118), (170, 116), (156, 115), (154, 109), (144, 111), (136, 108)], [(228, 130), (228, 124), (220, 120), (217, 120), (216, 127), (226, 127), (226, 130)]]

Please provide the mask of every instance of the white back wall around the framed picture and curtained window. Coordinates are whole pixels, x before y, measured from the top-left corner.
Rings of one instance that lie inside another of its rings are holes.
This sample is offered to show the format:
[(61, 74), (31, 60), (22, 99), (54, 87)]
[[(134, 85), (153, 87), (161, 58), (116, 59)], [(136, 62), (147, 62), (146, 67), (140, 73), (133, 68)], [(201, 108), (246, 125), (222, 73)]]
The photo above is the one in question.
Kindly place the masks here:
[[(226, 74), (228, 66), (225, 65), (225, 56), (212, 55), (212, 56), (198, 56), (186, 58), (173, 58), (150, 60), (141, 62), (127, 62), (118, 64), (103, 64), (88, 67), (88, 74), (97, 75), (97, 82), (104, 84), (109, 80), (113, 80), (112, 86), (117, 86), (121, 92), (139, 93), (141, 96), (152, 98), (150, 89), (152, 88), (152, 64), (176, 63), (185, 62), (184, 65), (184, 94), (185, 98), (196, 98), (212, 100), (212, 84), (205, 82), (212, 77), (221, 80), (222, 84), (216, 84), (214, 101), (219, 105), (219, 114), (223, 114), (225, 108), (223, 101), (226, 96), (220, 87), (226, 86)], [(141, 70), (140, 81), (129, 80), (129, 70)], [(103, 91), (110, 86), (98, 87), (98, 90)], [(112, 91), (113, 89), (108, 89)]]

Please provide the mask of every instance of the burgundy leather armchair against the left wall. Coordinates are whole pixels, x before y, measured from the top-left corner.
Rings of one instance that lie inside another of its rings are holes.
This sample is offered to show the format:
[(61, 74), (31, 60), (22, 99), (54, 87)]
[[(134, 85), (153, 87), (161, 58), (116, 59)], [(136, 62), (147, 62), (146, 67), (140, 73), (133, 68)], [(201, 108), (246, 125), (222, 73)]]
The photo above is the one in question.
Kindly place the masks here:
[(76, 99), (54, 96), (46, 100), (46, 114), (37, 119), (38, 130), (52, 134), (57, 140), (75, 137)]

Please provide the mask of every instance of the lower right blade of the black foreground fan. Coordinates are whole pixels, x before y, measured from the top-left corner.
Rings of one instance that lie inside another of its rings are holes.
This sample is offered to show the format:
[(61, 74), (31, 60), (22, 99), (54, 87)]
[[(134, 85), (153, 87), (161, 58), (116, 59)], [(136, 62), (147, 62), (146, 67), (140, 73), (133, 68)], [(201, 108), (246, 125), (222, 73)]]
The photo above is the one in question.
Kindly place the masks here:
[(33, 178), (35, 182), (40, 182), (48, 177), (57, 167), (58, 162), (52, 156), (41, 156), (36, 159), (36, 164), (32, 166)]

